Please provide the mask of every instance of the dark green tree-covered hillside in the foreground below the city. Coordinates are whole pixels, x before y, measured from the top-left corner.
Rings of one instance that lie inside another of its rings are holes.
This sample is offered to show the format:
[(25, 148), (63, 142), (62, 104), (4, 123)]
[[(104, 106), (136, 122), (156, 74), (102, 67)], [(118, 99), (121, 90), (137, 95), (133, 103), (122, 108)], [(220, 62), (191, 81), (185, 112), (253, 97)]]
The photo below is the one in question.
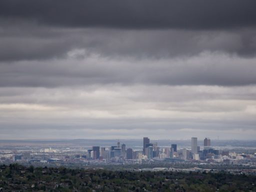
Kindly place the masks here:
[(256, 176), (0, 165), (1, 191), (256, 191)]

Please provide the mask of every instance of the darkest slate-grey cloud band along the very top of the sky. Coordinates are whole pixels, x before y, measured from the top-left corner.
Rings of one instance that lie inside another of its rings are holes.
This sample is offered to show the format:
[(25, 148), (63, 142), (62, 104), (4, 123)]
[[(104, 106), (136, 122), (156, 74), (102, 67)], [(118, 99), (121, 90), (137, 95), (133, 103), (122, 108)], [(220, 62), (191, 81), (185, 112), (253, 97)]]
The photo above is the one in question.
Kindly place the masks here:
[(58, 26), (255, 26), (255, 0), (1, 0), (0, 16)]

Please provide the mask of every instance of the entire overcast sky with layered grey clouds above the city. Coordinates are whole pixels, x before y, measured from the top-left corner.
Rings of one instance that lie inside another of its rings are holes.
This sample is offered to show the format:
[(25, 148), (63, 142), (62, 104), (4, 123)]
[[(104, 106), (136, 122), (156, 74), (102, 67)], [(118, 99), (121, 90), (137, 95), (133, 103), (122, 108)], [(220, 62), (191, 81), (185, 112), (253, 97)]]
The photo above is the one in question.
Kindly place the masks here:
[(254, 139), (255, 0), (1, 0), (0, 139)]

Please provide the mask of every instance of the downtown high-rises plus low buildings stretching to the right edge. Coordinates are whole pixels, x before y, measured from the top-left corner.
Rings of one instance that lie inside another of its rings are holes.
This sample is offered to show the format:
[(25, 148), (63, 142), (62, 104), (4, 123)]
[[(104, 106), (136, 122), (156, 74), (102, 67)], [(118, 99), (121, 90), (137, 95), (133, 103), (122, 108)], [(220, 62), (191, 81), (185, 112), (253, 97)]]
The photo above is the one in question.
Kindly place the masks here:
[(116, 145), (106, 147), (92, 146), (87, 150), (87, 160), (159, 160), (164, 159), (170, 162), (180, 161), (206, 161), (210, 163), (249, 163), (256, 162), (255, 154), (236, 154), (228, 151), (219, 151), (211, 147), (209, 138), (204, 138), (203, 146), (197, 143), (197, 137), (191, 137), (191, 147), (177, 148), (177, 144), (170, 144), (169, 147), (159, 147), (157, 142), (150, 142), (148, 137), (143, 137), (142, 150), (133, 150), (126, 148), (123, 143), (118, 141)]

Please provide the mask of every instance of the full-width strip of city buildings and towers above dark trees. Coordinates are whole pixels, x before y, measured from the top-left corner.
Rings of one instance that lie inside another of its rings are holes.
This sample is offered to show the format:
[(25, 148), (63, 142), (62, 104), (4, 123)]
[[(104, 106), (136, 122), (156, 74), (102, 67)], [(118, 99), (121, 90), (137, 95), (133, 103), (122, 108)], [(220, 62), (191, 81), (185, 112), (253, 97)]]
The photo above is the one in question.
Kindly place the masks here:
[(56, 162), (65, 163), (107, 163), (107, 162), (148, 162), (164, 160), (169, 162), (201, 161), (209, 163), (246, 164), (255, 163), (256, 154), (235, 153), (233, 151), (218, 150), (211, 146), (209, 138), (203, 140), (203, 146), (197, 143), (197, 137), (191, 137), (190, 147), (179, 147), (176, 143), (169, 146), (158, 146), (157, 142), (150, 142), (143, 137), (143, 146), (140, 149), (126, 147), (118, 141), (109, 147), (92, 146), (91, 148), (52, 149), (43, 148), (31, 151), (4, 151), (0, 152), (0, 161), (26, 162)]

